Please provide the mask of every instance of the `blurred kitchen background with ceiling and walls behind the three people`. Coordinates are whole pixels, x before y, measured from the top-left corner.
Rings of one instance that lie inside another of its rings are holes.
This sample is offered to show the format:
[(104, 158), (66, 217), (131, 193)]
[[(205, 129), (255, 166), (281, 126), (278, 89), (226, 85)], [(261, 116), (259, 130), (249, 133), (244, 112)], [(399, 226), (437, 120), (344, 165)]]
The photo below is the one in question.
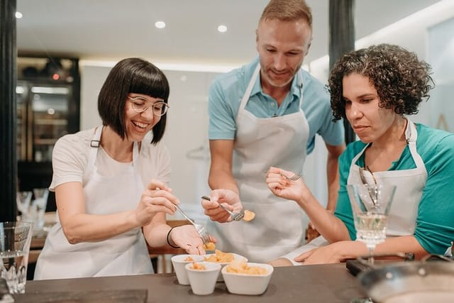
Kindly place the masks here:
[[(303, 68), (326, 83), (329, 2), (307, 2), (314, 15), (314, 41)], [(50, 184), (53, 143), (65, 133), (100, 125), (97, 94), (109, 70), (124, 57), (143, 57), (164, 70), (170, 81), (165, 133), (173, 167), (170, 185), (182, 208), (203, 221), (199, 198), (209, 194), (209, 84), (219, 73), (255, 57), (255, 28), (266, 4), (17, 0), (21, 190)], [(354, 16), (356, 48), (395, 43), (431, 63), (436, 89), (412, 119), (454, 132), (454, 1), (356, 0)], [(165, 27), (157, 28), (157, 21)], [(321, 201), (326, 201), (325, 161), (320, 140), (306, 160), (304, 178)], [(48, 209), (52, 207), (55, 204), (48, 203)]]

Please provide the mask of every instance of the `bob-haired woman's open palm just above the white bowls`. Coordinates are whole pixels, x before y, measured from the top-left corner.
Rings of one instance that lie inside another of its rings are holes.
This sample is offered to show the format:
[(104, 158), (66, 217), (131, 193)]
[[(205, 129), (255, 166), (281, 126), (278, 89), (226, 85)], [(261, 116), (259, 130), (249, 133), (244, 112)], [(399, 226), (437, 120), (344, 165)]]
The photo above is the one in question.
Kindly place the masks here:
[[(197, 233), (194, 226), (187, 224), (183, 226), (177, 226), (170, 232), (170, 238), (180, 248), (183, 248), (187, 253), (193, 255), (204, 255), (205, 248), (204, 243), (201, 241), (199, 233)], [(210, 236), (210, 240), (216, 243), (216, 239)]]

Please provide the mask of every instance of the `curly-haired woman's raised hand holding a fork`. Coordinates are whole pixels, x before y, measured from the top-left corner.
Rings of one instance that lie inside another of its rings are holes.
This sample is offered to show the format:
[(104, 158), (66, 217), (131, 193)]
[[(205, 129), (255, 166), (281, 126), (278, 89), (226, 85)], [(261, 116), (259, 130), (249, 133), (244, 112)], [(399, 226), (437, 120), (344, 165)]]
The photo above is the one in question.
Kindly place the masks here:
[(294, 172), (287, 170), (281, 170), (277, 167), (270, 167), (267, 171), (267, 185), (271, 189), (272, 193), (277, 197), (284, 199), (299, 201), (304, 197), (304, 192), (309, 191), (302, 178), (296, 181), (288, 180), (286, 177), (292, 177)]

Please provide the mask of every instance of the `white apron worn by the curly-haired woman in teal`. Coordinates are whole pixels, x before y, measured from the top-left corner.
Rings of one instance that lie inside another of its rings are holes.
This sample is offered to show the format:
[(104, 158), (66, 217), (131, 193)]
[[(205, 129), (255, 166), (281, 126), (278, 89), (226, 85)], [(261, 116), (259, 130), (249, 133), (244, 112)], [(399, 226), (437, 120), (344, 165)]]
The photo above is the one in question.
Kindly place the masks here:
[[(416, 217), (418, 216), (418, 206), (421, 201), (423, 189), (426, 185), (427, 171), (421, 156), (416, 151), (416, 126), (408, 120), (405, 138), (409, 145), (411, 157), (413, 158), (416, 168), (410, 170), (387, 170), (384, 172), (374, 172), (377, 184), (395, 184), (397, 185), (394, 199), (389, 210), (387, 236), (411, 236), (414, 234), (416, 227)], [(347, 184), (361, 184), (360, 167), (356, 165), (356, 161), (365, 152), (367, 144), (358, 155), (353, 158), (350, 165)], [(374, 184), (372, 174), (364, 170), (364, 177), (368, 184)], [(285, 258), (292, 261), (294, 265), (301, 265), (293, 259), (301, 253), (309, 251), (313, 248), (328, 245), (323, 236), (315, 238), (311, 243), (302, 246), (301, 248), (292, 251)]]

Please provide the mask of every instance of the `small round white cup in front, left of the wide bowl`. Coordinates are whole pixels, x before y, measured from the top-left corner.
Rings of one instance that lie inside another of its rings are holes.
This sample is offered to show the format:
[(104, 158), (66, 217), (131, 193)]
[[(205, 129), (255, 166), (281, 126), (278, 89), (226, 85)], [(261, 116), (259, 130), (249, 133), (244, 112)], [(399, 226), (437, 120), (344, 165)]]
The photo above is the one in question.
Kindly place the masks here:
[(197, 264), (204, 266), (205, 269), (194, 270), (192, 263), (184, 265), (192, 292), (199, 295), (212, 294), (216, 279), (221, 272), (221, 264), (213, 262), (197, 262)]

